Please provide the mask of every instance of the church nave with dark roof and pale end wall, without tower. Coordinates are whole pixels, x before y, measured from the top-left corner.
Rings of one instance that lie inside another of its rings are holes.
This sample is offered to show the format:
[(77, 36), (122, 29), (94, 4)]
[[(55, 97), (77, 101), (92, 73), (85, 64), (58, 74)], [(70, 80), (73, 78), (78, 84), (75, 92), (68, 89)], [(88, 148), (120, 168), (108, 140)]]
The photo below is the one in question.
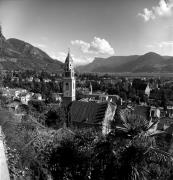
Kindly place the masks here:
[(80, 128), (92, 127), (108, 134), (117, 106), (108, 102), (74, 101), (70, 107), (70, 122)]

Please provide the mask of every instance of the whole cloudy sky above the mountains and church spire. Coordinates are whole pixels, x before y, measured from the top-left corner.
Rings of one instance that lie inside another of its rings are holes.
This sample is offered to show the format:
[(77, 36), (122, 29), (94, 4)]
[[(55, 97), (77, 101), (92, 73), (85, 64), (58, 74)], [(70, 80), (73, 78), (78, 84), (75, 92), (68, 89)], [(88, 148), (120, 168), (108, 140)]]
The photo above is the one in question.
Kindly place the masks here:
[(95, 57), (173, 56), (173, 0), (0, 0), (5, 37), (76, 65)]

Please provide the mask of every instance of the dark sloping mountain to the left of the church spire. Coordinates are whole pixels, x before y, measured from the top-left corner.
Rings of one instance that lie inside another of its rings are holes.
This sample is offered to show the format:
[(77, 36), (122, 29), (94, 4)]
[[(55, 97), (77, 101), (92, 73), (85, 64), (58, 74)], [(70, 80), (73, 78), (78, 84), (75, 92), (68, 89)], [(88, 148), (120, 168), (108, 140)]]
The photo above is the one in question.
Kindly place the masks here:
[(8, 39), (0, 33), (0, 68), (4, 70), (46, 70), (58, 72), (63, 63), (45, 52), (18, 39)]

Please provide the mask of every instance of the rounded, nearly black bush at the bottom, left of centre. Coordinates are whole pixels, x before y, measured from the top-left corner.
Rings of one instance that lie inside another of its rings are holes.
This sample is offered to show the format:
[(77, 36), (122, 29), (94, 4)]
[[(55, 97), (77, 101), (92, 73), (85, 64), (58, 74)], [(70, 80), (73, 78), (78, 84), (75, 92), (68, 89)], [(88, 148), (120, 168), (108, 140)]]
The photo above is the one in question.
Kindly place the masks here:
[(53, 179), (85, 179), (88, 166), (87, 155), (81, 152), (73, 141), (62, 141), (53, 149), (50, 157), (50, 171)]

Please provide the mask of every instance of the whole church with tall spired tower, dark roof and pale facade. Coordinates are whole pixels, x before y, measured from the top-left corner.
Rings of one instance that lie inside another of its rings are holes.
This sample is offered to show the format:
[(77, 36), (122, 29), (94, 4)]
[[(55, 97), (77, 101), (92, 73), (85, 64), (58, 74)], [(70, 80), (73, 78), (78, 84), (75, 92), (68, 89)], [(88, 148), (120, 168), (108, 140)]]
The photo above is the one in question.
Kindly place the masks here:
[(110, 132), (110, 124), (114, 119), (117, 106), (108, 101), (76, 100), (76, 79), (70, 52), (64, 64), (63, 104), (68, 107), (70, 126), (96, 128), (100, 129), (103, 134)]

